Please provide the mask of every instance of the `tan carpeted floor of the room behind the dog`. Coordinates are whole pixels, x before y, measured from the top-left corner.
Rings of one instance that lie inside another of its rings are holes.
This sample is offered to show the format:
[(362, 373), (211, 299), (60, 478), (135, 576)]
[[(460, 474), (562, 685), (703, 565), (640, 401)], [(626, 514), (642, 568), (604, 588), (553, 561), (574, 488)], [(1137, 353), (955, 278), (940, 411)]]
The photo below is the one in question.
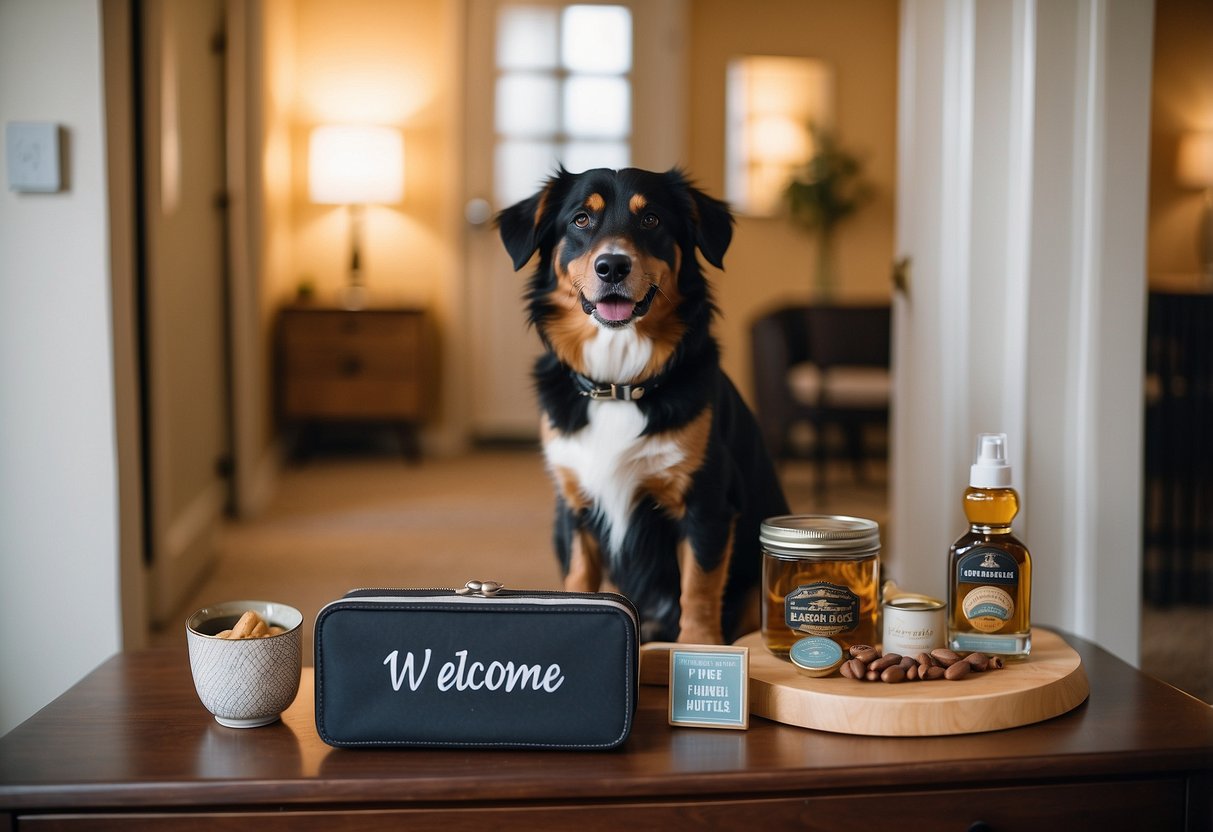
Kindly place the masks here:
[[(807, 463), (782, 468), (793, 512), (888, 520), (883, 465), (856, 483), (831, 469), (822, 505)], [(552, 494), (537, 449), (479, 451), (403, 463), (393, 456), (315, 457), (283, 472), (269, 509), (218, 535), (215, 569), (182, 605), (270, 599), (309, 623), (324, 604), (354, 587), (450, 587), (471, 579), (520, 588), (558, 588), (552, 554)], [(1143, 611), (1141, 668), (1213, 702), (1213, 609)], [(155, 643), (184, 642), (180, 626)]]

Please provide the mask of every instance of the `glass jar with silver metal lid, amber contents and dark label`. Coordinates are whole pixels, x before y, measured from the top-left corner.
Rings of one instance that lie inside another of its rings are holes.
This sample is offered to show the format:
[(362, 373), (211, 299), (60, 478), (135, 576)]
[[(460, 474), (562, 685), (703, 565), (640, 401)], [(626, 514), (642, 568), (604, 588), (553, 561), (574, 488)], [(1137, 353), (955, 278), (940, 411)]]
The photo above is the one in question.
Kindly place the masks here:
[(762, 637), (776, 656), (807, 636), (832, 638), (843, 651), (879, 637), (881, 528), (837, 514), (767, 519), (762, 543)]

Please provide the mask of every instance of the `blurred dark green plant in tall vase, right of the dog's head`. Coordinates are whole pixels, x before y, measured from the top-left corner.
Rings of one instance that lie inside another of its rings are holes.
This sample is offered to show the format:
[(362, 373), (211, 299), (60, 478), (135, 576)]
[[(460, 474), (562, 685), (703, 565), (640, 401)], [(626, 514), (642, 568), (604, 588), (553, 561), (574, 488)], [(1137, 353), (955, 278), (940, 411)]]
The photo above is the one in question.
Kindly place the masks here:
[(855, 213), (872, 196), (864, 179), (864, 163), (839, 147), (837, 137), (816, 125), (809, 125), (813, 155), (788, 182), (784, 192), (788, 216), (809, 234), (818, 235), (816, 297), (833, 300), (835, 227)]

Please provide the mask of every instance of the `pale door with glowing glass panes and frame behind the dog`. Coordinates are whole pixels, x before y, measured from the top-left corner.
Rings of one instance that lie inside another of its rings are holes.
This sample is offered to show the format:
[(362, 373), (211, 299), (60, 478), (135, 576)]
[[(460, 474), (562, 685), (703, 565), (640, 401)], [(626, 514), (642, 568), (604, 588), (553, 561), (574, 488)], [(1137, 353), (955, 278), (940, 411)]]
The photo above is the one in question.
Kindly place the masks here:
[(558, 164), (678, 164), (682, 116), (662, 103), (683, 86), (684, 17), (682, 0), (469, 2), (465, 253), (474, 439), (539, 435), (530, 369), (540, 344), (525, 320), (525, 277), (513, 273), (492, 216), (531, 195)]

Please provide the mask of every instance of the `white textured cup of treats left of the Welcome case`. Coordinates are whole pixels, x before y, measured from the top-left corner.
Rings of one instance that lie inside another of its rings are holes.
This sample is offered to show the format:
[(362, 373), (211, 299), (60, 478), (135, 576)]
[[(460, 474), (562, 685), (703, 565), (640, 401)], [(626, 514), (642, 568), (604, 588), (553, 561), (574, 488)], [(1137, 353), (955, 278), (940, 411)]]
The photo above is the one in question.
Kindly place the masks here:
[[(264, 638), (216, 638), (246, 610), (286, 632)], [(221, 725), (268, 725), (295, 701), (303, 665), (302, 632), (302, 612), (266, 600), (224, 602), (189, 616), (186, 639), (194, 689)]]

